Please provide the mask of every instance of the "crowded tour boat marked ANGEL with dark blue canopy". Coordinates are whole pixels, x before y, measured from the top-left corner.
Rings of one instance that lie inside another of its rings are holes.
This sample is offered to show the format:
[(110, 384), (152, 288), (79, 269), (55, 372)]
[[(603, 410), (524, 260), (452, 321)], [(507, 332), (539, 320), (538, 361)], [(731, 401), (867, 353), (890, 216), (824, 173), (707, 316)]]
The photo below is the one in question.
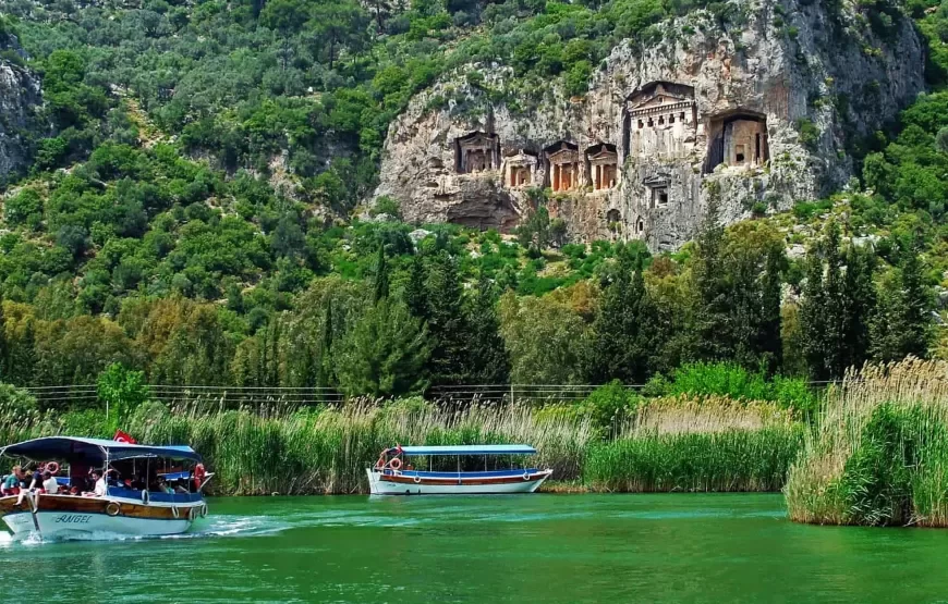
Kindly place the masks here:
[(202, 491), (214, 474), (190, 446), (50, 436), (2, 447), (0, 456), (65, 474), (56, 477), (56, 494), (0, 497), (0, 515), (17, 535), (178, 534), (207, 515)]

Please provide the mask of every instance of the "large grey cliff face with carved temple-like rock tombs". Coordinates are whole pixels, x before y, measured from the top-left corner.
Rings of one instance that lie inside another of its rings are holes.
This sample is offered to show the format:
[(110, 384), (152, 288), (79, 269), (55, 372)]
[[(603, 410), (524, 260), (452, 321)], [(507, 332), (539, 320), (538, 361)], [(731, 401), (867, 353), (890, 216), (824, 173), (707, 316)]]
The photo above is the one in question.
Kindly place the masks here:
[[(924, 88), (913, 24), (900, 20), (884, 40), (850, 9), (733, 1), (748, 16), (739, 30), (703, 11), (666, 23), (658, 44), (615, 48), (582, 99), (554, 89), (524, 112), (462, 74), (445, 78), (391, 125), (376, 197), (399, 199), (411, 221), (503, 231), (546, 202), (575, 239), (670, 249), (713, 202), (733, 222), (840, 188), (852, 176), (848, 139)], [(512, 77), (479, 69), (488, 84)], [(459, 88), (463, 111), (432, 109)]]

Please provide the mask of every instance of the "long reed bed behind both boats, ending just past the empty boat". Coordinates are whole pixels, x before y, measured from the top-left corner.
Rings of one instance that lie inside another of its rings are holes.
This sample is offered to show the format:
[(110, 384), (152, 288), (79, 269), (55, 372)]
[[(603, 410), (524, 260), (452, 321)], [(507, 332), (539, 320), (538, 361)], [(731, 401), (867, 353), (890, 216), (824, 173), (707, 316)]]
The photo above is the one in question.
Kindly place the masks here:
[[(65, 431), (63, 422), (73, 429)], [(10, 422), (0, 414), (0, 436), (16, 442), (54, 433), (111, 435), (111, 427), (78, 423), (75, 417), (39, 415)], [(530, 443), (538, 453), (531, 464), (576, 478), (593, 434), (587, 419), (538, 417), (526, 406), (452, 409), (417, 399), (299, 411), (144, 405), (124, 419), (123, 430), (142, 442), (190, 444), (217, 472), (214, 492), (233, 495), (367, 492), (365, 469), (397, 443)]]

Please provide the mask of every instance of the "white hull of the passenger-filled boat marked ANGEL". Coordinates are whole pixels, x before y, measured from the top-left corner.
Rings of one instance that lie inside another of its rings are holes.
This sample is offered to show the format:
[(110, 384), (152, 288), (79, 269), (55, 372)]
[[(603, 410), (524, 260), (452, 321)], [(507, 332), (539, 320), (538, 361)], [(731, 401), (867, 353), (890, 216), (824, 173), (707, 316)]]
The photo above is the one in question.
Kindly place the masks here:
[[(133, 537), (186, 532), (206, 513), (204, 502), (183, 505), (143, 504), (118, 497), (39, 495), (36, 510), (28, 501), (16, 506), (16, 496), (0, 498), (3, 522), (17, 537), (84, 537), (97, 533)], [(38, 531), (37, 531), (38, 529)]]

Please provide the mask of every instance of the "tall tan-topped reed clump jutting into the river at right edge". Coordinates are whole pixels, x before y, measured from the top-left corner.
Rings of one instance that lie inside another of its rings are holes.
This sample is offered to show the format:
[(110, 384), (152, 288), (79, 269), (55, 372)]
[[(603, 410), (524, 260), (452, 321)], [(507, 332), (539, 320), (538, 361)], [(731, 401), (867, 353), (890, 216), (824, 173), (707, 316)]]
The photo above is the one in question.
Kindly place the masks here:
[(806, 432), (785, 493), (800, 522), (948, 526), (948, 363), (850, 372)]

